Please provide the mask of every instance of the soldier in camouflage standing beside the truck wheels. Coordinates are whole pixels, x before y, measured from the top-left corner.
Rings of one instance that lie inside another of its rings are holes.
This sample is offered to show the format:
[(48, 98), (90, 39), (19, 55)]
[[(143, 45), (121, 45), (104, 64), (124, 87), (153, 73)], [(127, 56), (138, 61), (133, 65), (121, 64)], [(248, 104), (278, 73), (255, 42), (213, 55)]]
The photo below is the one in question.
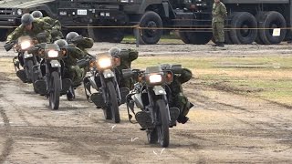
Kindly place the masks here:
[(224, 18), (227, 16), (227, 11), (225, 5), (220, 0), (214, 0), (212, 15), (214, 46), (224, 46)]

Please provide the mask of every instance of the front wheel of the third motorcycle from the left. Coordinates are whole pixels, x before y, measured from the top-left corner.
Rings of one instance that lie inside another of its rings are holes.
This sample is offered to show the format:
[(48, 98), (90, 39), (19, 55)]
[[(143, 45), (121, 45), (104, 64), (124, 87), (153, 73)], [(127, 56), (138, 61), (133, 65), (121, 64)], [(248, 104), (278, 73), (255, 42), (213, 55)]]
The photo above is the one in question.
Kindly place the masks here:
[(111, 109), (112, 119), (115, 121), (115, 123), (119, 123), (120, 111), (119, 111), (117, 92), (112, 81), (109, 81), (107, 83), (107, 87), (109, 89), (109, 95), (110, 95), (110, 108), (107, 108), (107, 109)]

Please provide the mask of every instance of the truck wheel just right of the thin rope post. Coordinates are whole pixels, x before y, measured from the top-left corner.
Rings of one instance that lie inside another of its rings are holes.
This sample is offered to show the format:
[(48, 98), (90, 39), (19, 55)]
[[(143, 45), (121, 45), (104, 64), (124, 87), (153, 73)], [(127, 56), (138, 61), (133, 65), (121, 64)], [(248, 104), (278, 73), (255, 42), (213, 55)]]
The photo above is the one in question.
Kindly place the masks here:
[[(155, 12), (148, 11), (142, 15), (140, 24), (141, 27), (162, 28), (162, 18)], [(161, 39), (162, 29), (141, 29), (140, 43), (147, 45), (154, 45)]]

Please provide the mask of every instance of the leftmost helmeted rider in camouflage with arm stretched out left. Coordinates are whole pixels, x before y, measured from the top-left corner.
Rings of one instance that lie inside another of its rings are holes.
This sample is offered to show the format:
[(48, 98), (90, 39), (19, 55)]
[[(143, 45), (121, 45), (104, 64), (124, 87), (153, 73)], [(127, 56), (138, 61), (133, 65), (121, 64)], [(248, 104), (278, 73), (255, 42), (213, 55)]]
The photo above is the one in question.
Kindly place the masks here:
[(16, 40), (20, 36), (35, 37), (39, 33), (46, 33), (44, 42), (49, 43), (51, 40), (51, 26), (42, 20), (34, 19), (32, 15), (25, 14), (21, 17), (21, 25), (7, 36), (6, 43)]

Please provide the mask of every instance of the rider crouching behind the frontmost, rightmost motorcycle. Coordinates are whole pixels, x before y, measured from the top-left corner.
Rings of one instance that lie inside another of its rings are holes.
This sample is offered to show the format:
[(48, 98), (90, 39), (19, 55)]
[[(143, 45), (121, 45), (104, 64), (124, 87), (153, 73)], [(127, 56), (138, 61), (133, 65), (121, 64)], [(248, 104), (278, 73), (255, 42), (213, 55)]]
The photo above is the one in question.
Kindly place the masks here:
[(190, 108), (193, 107), (193, 104), (183, 95), (183, 83), (192, 78), (192, 71), (183, 67), (172, 69), (172, 66), (169, 64), (163, 64), (162, 70), (171, 70), (173, 73), (173, 81), (168, 85), (171, 89), (171, 93), (169, 93), (170, 108), (180, 109), (177, 121), (184, 124), (189, 120), (186, 115), (189, 113)]

